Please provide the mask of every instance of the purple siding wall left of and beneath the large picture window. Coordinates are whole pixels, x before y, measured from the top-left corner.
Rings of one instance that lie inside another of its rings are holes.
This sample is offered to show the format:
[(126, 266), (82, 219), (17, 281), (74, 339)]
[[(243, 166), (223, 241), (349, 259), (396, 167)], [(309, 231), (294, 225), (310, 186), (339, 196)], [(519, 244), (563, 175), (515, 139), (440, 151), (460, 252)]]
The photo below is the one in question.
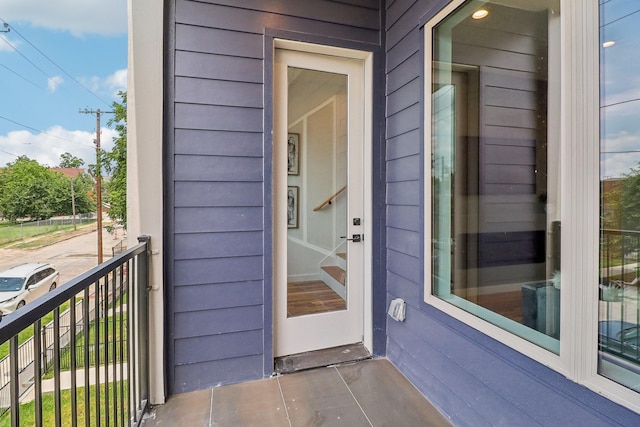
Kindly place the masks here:
[[(637, 414), (423, 302), (423, 268), (428, 261), (420, 250), (424, 231), (421, 212), (430, 201), (424, 200), (421, 191), (430, 183), (423, 182), (422, 175), (416, 178), (403, 170), (421, 169), (421, 156), (429, 148), (420, 129), (409, 129), (415, 125), (419, 111), (414, 107), (415, 95), (407, 94), (404, 103), (397, 98), (401, 91), (409, 92), (408, 87), (423, 74), (418, 20), (424, 22), (424, 14), (433, 15), (446, 3), (387, 2), (387, 300), (403, 298), (408, 306), (405, 322), (388, 319), (387, 357), (455, 425), (640, 425)], [(517, 30), (515, 34), (526, 31)], [(522, 50), (529, 41), (518, 36), (505, 42)], [(525, 56), (521, 58), (523, 67), (530, 67), (530, 58)], [(491, 80), (486, 84), (492, 88), (535, 90), (531, 79), (521, 72), (509, 72), (504, 79), (489, 77)], [(494, 106), (514, 107), (509, 104), (512, 98), (505, 97), (504, 91), (493, 91), (490, 95)], [(493, 114), (496, 121), (513, 120), (510, 111)], [(490, 146), (501, 138), (509, 138), (508, 135), (517, 138), (524, 151), (518, 151), (513, 143), (509, 150), (515, 150), (518, 162), (527, 164), (531, 144), (523, 141), (535, 139), (530, 130), (492, 127), (490, 132), (488, 137), (493, 139), (485, 140)], [(513, 132), (519, 134), (514, 136)], [(499, 166), (503, 160), (501, 155), (492, 156)]]

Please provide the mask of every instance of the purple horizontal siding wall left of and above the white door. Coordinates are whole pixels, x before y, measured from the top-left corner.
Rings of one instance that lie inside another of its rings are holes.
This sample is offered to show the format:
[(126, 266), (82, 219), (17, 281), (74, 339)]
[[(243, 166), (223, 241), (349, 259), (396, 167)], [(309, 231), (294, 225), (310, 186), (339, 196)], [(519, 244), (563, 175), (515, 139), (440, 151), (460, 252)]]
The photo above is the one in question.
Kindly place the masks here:
[(271, 374), (266, 34), (368, 50), (382, 37), (377, 0), (174, 0), (168, 25), (167, 360), (179, 393)]

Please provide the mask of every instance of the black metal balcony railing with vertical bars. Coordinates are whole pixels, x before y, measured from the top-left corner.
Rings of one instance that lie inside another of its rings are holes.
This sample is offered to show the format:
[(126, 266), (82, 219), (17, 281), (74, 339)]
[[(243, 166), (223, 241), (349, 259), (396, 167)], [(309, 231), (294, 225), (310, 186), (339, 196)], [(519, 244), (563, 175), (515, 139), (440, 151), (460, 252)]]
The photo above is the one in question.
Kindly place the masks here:
[(0, 425), (139, 425), (149, 396), (149, 238), (0, 322)]

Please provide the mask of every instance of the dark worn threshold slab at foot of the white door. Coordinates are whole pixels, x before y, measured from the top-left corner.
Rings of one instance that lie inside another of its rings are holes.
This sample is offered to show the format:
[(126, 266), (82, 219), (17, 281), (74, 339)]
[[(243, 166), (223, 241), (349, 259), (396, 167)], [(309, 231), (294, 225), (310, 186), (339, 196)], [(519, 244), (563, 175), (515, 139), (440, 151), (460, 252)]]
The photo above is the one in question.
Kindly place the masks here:
[(357, 362), (370, 358), (371, 354), (362, 343), (348, 344), (340, 347), (277, 357), (274, 361), (274, 371), (276, 374), (291, 374), (307, 369)]

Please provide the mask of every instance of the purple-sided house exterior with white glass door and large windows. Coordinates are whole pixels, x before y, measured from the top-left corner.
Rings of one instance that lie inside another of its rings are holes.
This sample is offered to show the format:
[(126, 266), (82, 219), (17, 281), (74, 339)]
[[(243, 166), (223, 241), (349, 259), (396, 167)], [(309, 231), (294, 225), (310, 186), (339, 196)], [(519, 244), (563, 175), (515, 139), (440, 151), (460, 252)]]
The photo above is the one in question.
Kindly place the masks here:
[(130, 3), (152, 402), (361, 344), (456, 425), (640, 425), (637, 288), (599, 299), (640, 6)]

